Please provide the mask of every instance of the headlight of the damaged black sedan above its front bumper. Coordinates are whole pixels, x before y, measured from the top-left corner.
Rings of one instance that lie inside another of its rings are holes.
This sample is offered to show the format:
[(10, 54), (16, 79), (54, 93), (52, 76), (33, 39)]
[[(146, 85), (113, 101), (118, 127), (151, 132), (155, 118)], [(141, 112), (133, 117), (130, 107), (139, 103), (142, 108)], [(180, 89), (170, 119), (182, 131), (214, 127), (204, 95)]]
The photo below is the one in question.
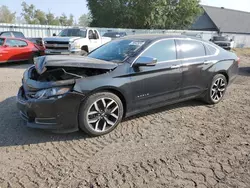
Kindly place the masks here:
[(34, 98), (36, 99), (48, 99), (48, 98), (60, 98), (63, 94), (66, 94), (70, 91), (70, 87), (58, 87), (58, 88), (49, 88), (38, 91)]

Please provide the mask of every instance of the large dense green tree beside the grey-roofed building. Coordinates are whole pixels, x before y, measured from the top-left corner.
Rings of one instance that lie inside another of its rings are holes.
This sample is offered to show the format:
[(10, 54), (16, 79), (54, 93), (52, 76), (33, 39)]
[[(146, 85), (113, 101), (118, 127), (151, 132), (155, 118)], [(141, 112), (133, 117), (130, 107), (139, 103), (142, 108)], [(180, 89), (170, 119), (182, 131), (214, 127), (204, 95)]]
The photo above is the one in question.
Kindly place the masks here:
[(188, 28), (202, 12), (199, 0), (87, 0), (91, 26)]

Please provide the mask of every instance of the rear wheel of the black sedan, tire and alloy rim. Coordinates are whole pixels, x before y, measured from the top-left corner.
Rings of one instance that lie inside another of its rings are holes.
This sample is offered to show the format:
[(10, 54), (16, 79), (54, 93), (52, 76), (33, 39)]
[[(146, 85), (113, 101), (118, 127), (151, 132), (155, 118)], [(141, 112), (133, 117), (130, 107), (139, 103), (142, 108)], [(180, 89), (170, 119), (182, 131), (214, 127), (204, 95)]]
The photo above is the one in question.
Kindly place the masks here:
[(223, 74), (215, 75), (203, 100), (208, 104), (219, 103), (225, 95), (227, 84), (227, 79)]

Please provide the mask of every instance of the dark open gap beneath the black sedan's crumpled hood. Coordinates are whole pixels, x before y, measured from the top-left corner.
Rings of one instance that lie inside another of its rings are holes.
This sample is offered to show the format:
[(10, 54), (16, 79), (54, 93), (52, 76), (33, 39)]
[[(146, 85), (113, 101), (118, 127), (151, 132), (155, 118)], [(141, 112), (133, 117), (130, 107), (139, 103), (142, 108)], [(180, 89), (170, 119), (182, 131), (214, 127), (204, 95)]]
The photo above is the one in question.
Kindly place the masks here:
[(106, 69), (80, 68), (80, 67), (48, 67), (41, 75), (36, 69), (31, 72), (31, 79), (40, 82), (62, 81), (86, 78), (109, 72)]

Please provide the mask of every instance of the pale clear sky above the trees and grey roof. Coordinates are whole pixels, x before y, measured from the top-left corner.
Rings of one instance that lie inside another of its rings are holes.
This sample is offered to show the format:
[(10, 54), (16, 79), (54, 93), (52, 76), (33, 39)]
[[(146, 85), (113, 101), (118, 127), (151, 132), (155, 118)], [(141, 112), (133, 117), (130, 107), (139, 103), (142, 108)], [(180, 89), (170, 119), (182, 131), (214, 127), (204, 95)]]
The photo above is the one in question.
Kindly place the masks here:
[[(7, 5), (12, 11), (20, 14), (22, 0), (0, 0), (0, 5)], [(78, 18), (81, 14), (87, 13), (86, 0), (25, 0), (28, 4), (34, 4), (37, 8), (55, 13), (57, 16), (62, 13), (74, 14)], [(237, 9), (250, 12), (250, 0), (201, 0), (202, 4)]]

